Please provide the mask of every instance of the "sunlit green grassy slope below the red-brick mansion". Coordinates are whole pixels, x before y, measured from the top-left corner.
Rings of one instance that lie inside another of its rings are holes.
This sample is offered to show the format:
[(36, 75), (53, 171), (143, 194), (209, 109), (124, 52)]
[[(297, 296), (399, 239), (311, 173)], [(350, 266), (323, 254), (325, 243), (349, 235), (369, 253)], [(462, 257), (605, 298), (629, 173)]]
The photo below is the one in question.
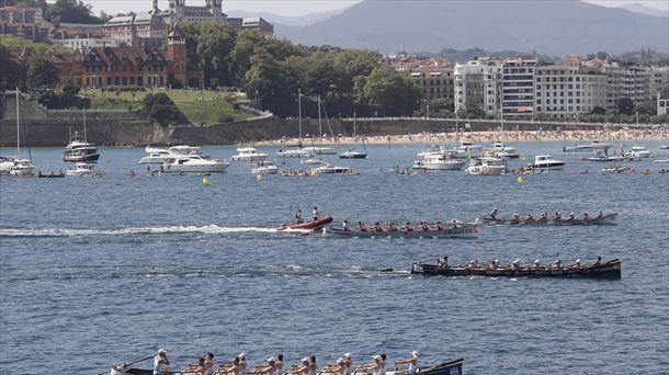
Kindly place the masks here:
[[(102, 93), (100, 90), (88, 90), (87, 94), (92, 98), (93, 109), (100, 110), (127, 110), (141, 107), (141, 100), (151, 91), (114, 92)], [(225, 100), (226, 93), (216, 91), (185, 91), (185, 90), (160, 90), (168, 94), (177, 106), (193, 124), (217, 124), (222, 117), (234, 117), (235, 121), (252, 117), (253, 115), (235, 111), (233, 103)]]

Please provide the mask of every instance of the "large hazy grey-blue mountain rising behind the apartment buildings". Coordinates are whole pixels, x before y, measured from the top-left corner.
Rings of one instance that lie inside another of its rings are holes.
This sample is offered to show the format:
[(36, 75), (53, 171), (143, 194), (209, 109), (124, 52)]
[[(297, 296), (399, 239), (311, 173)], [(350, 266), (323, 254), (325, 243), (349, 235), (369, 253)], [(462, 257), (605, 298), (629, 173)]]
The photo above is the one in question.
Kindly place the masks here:
[(365, 0), (313, 25), (275, 24), (274, 33), (305, 45), (379, 52), (480, 47), (564, 56), (669, 49), (667, 19), (577, 0)]

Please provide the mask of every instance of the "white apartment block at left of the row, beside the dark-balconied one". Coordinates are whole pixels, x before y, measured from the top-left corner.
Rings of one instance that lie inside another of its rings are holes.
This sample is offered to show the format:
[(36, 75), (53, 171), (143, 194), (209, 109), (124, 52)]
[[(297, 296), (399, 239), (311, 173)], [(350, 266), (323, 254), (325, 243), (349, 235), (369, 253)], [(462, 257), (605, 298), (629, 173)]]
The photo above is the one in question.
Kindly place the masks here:
[(501, 61), (477, 58), (455, 65), (455, 110), (481, 110), (496, 115), (499, 112)]

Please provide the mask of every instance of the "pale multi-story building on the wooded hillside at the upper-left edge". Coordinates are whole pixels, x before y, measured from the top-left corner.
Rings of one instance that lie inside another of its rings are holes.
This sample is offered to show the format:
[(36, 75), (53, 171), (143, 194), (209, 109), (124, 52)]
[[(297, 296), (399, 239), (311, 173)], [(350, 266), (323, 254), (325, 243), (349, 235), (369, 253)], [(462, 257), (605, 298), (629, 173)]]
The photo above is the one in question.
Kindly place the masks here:
[(0, 8), (0, 35), (11, 35), (29, 41), (44, 42), (53, 25), (42, 19), (36, 7)]

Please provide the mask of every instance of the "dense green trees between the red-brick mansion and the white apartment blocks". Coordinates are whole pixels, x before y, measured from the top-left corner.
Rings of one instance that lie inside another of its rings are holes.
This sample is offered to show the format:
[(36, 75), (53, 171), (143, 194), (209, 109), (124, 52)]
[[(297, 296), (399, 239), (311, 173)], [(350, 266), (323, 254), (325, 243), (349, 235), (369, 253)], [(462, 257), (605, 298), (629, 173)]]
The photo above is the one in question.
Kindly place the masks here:
[(229, 25), (184, 24), (190, 69), (203, 70), (208, 86), (242, 88), (279, 116), (317, 115), (317, 96), (331, 115), (410, 115), (420, 89), (405, 75), (364, 50), (309, 53), (285, 39), (265, 38)]

